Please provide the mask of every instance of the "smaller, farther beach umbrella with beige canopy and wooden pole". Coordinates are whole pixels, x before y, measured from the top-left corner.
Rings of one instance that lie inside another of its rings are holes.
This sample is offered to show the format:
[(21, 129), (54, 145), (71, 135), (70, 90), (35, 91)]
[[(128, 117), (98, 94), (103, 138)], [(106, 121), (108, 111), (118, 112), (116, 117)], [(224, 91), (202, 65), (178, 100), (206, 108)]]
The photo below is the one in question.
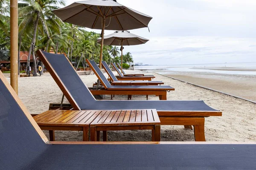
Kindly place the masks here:
[[(99, 38), (97, 42), (102, 43), (102, 38)], [(104, 36), (104, 45), (121, 45), (121, 69), (123, 46), (140, 45), (145, 44), (146, 42), (148, 42), (148, 39), (132, 34), (130, 31), (115, 31), (113, 34)]]

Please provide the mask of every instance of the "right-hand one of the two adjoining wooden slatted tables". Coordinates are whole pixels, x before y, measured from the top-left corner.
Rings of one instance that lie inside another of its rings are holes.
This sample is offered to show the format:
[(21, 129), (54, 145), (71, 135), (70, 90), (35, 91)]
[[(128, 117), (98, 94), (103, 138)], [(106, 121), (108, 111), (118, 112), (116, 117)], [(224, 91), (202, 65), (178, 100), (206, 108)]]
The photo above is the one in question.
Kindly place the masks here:
[(90, 124), (90, 140), (99, 141), (97, 132), (103, 131), (103, 141), (107, 141), (107, 130), (152, 130), (152, 141), (160, 141), (160, 119), (155, 109), (102, 112)]

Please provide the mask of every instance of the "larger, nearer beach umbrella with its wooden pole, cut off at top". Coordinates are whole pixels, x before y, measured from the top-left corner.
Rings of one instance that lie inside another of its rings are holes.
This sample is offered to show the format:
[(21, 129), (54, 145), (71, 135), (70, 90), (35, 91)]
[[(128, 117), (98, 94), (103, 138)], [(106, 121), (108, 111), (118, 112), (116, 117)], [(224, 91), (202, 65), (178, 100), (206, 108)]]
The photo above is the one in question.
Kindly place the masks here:
[(66, 23), (77, 26), (101, 29), (102, 44), (99, 67), (102, 65), (104, 30), (130, 30), (148, 27), (152, 17), (135, 11), (116, 2), (116, 0), (86, 0), (52, 11)]

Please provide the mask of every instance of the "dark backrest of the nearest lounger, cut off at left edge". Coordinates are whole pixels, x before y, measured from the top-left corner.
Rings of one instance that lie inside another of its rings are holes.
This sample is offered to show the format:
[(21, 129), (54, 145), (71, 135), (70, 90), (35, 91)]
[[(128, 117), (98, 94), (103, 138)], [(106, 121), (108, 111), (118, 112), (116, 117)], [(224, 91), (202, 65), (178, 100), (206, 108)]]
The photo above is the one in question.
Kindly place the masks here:
[(45, 142), (48, 139), (0, 71), (0, 170), (26, 166), (48, 147)]

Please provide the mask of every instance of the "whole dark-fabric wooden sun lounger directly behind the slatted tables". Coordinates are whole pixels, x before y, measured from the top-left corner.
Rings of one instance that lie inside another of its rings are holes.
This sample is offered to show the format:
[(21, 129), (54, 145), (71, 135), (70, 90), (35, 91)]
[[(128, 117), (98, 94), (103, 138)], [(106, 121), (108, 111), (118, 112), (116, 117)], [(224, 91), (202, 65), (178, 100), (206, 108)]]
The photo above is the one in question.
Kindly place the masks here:
[[(42, 51), (37, 51), (39, 57), (41, 57), (41, 53)], [(41, 60), (48, 67), (47, 70), (75, 110), (154, 108), (157, 110), (161, 125), (193, 125), (196, 141), (205, 141), (204, 118), (222, 115), (221, 111), (209, 107), (201, 100), (96, 100), (73, 67), (70, 66), (70, 62), (61, 62), (60, 60), (51, 59), (51, 57), (48, 58), (49, 62), (51, 62), (51, 65), (48, 66), (48, 62), (44, 60), (44, 57), (41, 57)], [(65, 106), (67, 107), (67, 105)]]

